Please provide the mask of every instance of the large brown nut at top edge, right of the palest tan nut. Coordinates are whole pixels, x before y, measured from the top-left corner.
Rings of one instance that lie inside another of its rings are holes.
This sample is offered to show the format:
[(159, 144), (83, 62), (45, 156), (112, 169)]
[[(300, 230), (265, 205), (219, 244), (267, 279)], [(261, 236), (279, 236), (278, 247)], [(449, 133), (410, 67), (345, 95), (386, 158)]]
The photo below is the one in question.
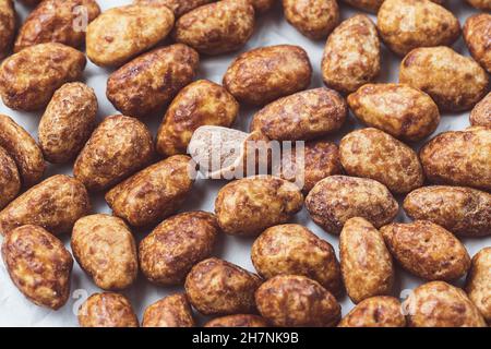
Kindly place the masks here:
[(223, 55), (244, 46), (254, 32), (254, 8), (249, 0), (223, 0), (181, 16), (173, 37), (200, 53)]

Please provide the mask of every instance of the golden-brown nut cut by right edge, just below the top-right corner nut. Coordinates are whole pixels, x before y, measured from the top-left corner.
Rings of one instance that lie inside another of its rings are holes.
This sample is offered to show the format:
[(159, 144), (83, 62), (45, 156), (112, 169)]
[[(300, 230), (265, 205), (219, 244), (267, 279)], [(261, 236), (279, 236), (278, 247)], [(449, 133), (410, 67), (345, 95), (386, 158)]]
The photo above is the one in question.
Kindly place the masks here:
[[(491, 10), (491, 1), (490, 1)], [(479, 13), (467, 19), (464, 25), (464, 39), (470, 55), (491, 73), (491, 14)]]

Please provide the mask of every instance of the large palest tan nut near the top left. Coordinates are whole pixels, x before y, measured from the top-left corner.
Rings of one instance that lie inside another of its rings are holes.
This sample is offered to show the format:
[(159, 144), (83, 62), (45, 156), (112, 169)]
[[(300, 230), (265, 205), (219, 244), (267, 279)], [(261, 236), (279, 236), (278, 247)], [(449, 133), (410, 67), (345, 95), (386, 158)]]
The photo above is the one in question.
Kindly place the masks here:
[(87, 57), (100, 67), (119, 67), (164, 40), (173, 23), (167, 7), (139, 3), (109, 9), (87, 26)]

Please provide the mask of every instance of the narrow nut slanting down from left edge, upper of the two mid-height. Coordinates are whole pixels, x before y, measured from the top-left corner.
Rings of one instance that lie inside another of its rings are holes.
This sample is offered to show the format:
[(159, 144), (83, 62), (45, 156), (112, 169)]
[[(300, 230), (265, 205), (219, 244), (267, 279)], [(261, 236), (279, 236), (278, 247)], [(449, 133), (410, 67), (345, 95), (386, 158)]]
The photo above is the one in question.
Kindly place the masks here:
[(40, 181), (46, 169), (43, 152), (31, 134), (12, 118), (0, 115), (0, 146), (15, 161), (24, 188)]

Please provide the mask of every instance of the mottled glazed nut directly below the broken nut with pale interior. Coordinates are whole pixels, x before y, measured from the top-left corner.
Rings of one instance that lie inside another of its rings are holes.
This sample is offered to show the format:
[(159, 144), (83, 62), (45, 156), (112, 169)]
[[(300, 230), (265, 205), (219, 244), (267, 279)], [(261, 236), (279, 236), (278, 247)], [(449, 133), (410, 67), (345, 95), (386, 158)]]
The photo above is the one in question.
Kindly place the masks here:
[(255, 176), (225, 185), (215, 201), (215, 213), (224, 232), (256, 236), (287, 222), (302, 206), (303, 195), (294, 183)]

